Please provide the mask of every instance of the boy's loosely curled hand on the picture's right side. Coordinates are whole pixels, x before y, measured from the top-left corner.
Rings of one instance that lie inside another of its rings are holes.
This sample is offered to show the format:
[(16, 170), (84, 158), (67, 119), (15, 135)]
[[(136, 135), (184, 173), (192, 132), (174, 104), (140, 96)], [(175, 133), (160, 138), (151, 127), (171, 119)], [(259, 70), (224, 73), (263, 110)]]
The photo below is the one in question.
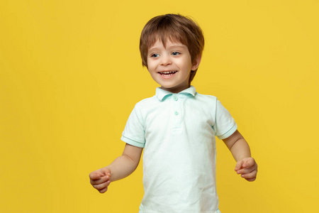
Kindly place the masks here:
[(241, 177), (248, 181), (254, 181), (257, 176), (257, 163), (254, 161), (254, 158), (238, 160), (235, 166), (235, 172), (241, 174)]

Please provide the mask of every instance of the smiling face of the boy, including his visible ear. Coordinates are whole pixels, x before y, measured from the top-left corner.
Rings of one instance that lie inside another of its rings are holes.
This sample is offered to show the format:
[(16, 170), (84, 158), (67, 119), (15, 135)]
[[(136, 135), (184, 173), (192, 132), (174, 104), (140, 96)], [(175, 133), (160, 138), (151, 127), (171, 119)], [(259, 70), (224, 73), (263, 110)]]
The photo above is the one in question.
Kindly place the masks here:
[(189, 87), (191, 70), (198, 65), (192, 65), (189, 48), (179, 42), (167, 40), (166, 48), (162, 41), (152, 45), (147, 53), (147, 70), (153, 80), (162, 89), (178, 93)]

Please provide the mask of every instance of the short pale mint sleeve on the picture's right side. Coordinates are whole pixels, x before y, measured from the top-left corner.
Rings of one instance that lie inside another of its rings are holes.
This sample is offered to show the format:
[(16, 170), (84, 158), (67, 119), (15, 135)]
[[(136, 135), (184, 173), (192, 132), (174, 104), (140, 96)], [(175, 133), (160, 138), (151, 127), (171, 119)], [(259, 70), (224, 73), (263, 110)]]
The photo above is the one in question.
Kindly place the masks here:
[(213, 128), (219, 139), (228, 138), (237, 130), (235, 120), (218, 100), (216, 101), (216, 120)]

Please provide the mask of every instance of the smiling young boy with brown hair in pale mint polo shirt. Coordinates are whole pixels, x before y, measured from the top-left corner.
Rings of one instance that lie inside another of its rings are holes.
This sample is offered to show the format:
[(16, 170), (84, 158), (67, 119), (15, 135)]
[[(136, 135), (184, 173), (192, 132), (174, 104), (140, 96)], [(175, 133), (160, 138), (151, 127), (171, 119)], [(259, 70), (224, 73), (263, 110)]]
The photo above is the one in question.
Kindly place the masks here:
[(235, 171), (256, 179), (257, 164), (232, 116), (216, 97), (198, 94), (190, 85), (203, 46), (201, 28), (184, 16), (157, 16), (145, 25), (142, 65), (161, 87), (135, 105), (121, 137), (123, 154), (89, 175), (96, 190), (106, 192), (110, 182), (133, 173), (144, 148), (140, 212), (220, 212), (215, 136), (233, 154)]

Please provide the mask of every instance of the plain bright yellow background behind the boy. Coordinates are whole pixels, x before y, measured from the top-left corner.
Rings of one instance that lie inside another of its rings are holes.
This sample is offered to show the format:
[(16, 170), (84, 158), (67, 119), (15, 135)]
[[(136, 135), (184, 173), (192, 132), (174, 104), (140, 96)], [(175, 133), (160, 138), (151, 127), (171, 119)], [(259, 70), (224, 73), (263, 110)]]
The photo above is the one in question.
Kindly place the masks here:
[[(9, 1), (0, 3), (0, 212), (138, 212), (142, 166), (100, 195), (89, 173), (121, 155), (142, 68), (142, 27), (192, 16), (206, 47), (193, 82), (233, 115), (259, 164), (234, 172), (218, 143), (220, 210), (318, 209), (318, 1)], [(187, 178), (187, 177), (185, 177)]]

